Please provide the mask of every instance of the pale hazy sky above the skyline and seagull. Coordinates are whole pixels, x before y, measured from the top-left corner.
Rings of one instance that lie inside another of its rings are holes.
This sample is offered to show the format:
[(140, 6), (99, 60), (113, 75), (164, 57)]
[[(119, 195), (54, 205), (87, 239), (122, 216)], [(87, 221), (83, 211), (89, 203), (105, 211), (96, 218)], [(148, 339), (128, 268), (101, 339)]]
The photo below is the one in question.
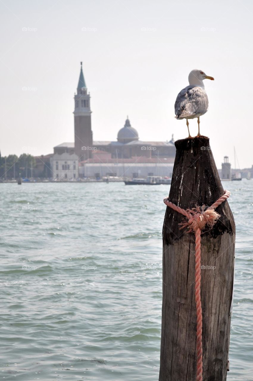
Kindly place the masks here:
[[(253, 164), (251, 1), (1, 0), (1, 155), (49, 154), (74, 141), (80, 61), (94, 140), (116, 140), (129, 115), (141, 140), (187, 137), (178, 92), (202, 69), (200, 132), (223, 156)], [(190, 121), (192, 135), (197, 120)]]

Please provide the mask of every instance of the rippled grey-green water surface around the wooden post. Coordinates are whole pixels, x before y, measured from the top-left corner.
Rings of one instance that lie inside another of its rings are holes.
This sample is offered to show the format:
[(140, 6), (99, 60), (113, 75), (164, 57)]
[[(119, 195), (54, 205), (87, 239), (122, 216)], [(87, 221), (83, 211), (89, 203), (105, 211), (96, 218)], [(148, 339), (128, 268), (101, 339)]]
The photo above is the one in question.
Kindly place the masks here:
[[(253, 380), (253, 180), (237, 226), (228, 380)], [(2, 184), (1, 379), (157, 381), (169, 186)]]

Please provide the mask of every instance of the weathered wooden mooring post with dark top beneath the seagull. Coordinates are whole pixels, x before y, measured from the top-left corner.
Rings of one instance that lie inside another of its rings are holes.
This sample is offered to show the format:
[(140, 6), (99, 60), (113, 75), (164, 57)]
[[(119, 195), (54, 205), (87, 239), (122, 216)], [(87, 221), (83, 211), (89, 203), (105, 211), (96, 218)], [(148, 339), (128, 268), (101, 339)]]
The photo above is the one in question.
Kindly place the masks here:
[[(184, 209), (210, 206), (224, 189), (209, 139), (182, 139), (175, 146), (169, 200)], [(225, 185), (229, 190), (230, 182)], [(235, 224), (227, 201), (216, 211), (221, 217), (201, 235), (203, 381), (226, 380), (229, 351)], [(167, 207), (159, 381), (196, 379), (195, 234), (179, 230), (183, 218)]]

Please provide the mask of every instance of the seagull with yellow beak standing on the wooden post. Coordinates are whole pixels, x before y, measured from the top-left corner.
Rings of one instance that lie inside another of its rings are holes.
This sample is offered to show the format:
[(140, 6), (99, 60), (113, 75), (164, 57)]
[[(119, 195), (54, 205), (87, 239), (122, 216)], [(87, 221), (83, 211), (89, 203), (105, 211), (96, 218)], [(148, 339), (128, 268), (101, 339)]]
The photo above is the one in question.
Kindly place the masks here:
[[(208, 110), (208, 98), (203, 84), (204, 79), (214, 80), (213, 77), (209, 77), (209, 75), (206, 75), (202, 70), (192, 70), (188, 77), (189, 86), (186, 86), (181, 90), (176, 97), (175, 118), (186, 119), (189, 138), (191, 138), (191, 135), (188, 119), (198, 118), (199, 126), (199, 117), (205, 114)], [(201, 136), (200, 132), (198, 132), (197, 136)]]

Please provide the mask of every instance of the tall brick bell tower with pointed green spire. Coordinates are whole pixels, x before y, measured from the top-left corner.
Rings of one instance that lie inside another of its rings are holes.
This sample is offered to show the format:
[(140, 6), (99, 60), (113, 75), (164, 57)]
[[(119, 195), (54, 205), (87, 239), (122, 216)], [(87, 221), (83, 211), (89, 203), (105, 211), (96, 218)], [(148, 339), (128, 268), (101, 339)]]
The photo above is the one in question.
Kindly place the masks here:
[(75, 94), (74, 120), (75, 154), (78, 155), (78, 160), (82, 161), (91, 157), (93, 144), (91, 131), (90, 93), (87, 94), (87, 87), (83, 77), (82, 62), (77, 85), (77, 94)]

